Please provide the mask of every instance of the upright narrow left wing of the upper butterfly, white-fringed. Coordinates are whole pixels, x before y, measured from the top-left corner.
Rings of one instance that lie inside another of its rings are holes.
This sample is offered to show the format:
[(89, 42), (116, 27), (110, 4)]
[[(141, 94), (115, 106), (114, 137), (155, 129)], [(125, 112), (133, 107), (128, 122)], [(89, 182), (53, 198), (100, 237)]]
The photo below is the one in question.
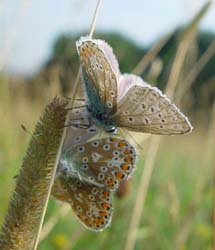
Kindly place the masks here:
[(102, 40), (82, 37), (76, 43), (90, 109), (113, 114), (117, 106), (119, 68), (112, 49)]

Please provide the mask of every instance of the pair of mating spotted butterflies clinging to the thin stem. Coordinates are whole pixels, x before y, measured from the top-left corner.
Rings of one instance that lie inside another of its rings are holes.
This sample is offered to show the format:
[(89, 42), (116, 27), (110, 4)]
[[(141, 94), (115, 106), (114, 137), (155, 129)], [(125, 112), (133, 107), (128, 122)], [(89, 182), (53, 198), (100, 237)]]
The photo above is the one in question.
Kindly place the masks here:
[(132, 173), (136, 153), (125, 140), (93, 140), (100, 132), (96, 125), (108, 132), (123, 127), (167, 135), (188, 133), (192, 126), (160, 90), (135, 75), (121, 75), (112, 48), (104, 41), (84, 37), (77, 42), (77, 50), (88, 110), (72, 112), (73, 126), (66, 136), (52, 193), (70, 203), (87, 228), (99, 231), (111, 221), (111, 193)]

